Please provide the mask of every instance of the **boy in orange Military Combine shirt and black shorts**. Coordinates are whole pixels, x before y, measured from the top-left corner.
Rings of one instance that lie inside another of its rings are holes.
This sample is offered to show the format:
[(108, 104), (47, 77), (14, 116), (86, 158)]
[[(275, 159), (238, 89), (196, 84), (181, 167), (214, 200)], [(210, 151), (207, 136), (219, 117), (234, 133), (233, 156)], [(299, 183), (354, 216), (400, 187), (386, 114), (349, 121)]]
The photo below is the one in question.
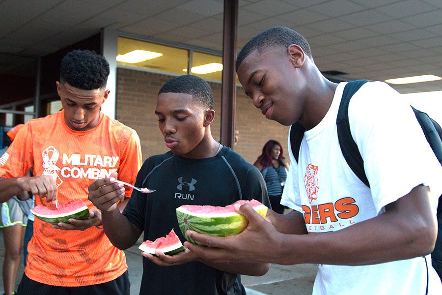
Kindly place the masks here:
[[(29, 120), (1, 158), (0, 200), (22, 192), (35, 205), (52, 209), (82, 200), (89, 218), (51, 224), (34, 220), (20, 295), (128, 295), (124, 252), (115, 248), (101, 226), (101, 212), (87, 199), (87, 187), (118, 171), (134, 183), (141, 166), (138, 134), (100, 111), (110, 90), (108, 61), (88, 50), (73, 50), (61, 60), (55, 83), (63, 110)], [(26, 176), (32, 169), (33, 177)], [(115, 184), (121, 198), (131, 188)], [(129, 199), (118, 202), (122, 210)], [(21, 237), (23, 241), (23, 236)]]

